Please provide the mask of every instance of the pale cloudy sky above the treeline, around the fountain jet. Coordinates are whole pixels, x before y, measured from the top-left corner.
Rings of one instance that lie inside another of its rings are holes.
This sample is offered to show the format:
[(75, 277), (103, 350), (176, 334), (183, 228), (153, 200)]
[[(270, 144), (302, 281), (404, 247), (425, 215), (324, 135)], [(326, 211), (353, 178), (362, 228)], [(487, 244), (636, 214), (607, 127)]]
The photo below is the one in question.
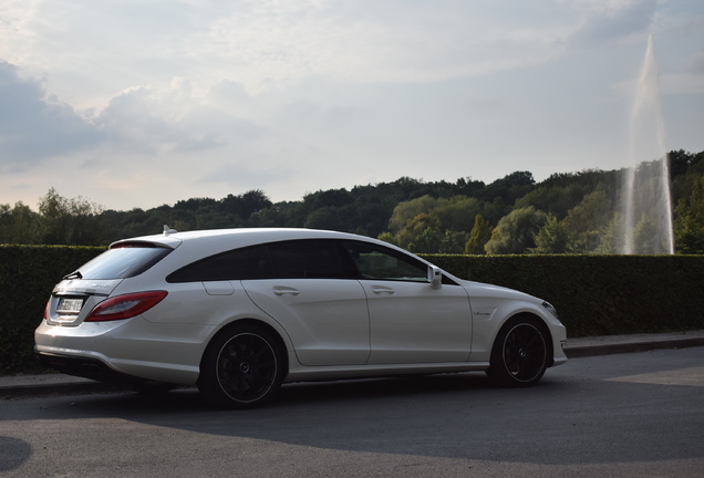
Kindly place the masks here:
[(0, 0), (0, 205), (625, 167), (649, 38), (702, 152), (702, 0)]

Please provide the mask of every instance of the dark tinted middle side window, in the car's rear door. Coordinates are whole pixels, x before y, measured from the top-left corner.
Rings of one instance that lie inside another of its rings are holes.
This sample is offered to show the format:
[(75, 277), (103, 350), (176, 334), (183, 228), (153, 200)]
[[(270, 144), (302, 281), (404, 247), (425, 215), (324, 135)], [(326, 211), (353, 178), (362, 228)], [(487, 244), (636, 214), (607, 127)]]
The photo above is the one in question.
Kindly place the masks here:
[(334, 241), (301, 239), (268, 245), (279, 279), (342, 279), (349, 277)]

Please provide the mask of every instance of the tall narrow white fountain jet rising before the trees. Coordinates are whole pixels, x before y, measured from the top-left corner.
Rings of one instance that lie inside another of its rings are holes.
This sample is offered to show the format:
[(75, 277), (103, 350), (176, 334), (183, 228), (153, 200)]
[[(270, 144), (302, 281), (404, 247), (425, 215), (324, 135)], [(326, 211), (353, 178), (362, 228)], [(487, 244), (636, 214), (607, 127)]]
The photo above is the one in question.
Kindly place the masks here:
[(652, 35), (635, 89), (631, 115), (630, 167), (621, 187), (621, 243), (619, 253), (674, 253), (672, 199), (660, 93)]

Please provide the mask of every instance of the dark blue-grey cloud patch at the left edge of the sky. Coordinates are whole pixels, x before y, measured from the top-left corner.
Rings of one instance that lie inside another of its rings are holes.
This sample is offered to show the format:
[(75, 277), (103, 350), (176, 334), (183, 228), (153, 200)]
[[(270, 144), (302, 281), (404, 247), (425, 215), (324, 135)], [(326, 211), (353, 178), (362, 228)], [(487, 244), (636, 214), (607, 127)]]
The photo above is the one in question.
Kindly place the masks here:
[(0, 61), (0, 169), (22, 170), (49, 156), (94, 146), (101, 134), (41, 81)]

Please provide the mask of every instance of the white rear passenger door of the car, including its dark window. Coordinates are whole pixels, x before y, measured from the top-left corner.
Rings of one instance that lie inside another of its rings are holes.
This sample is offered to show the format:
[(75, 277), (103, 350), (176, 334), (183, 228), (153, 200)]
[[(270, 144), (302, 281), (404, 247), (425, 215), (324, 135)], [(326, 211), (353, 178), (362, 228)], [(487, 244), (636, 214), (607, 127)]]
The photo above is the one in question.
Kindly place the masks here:
[(289, 334), (303, 365), (362, 365), (370, 323), (362, 285), (349, 277), (332, 240), (267, 245), (273, 278), (244, 279), (251, 301)]

